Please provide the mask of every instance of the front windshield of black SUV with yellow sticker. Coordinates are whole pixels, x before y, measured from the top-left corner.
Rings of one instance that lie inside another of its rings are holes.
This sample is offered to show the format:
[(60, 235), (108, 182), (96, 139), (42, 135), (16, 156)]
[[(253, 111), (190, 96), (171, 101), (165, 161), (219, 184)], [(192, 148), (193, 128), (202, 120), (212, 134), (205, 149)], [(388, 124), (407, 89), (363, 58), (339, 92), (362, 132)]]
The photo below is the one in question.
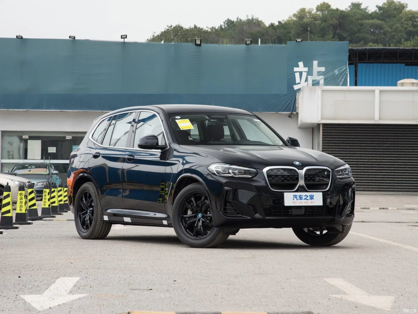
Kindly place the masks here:
[(256, 116), (228, 113), (170, 115), (178, 144), (285, 146)]

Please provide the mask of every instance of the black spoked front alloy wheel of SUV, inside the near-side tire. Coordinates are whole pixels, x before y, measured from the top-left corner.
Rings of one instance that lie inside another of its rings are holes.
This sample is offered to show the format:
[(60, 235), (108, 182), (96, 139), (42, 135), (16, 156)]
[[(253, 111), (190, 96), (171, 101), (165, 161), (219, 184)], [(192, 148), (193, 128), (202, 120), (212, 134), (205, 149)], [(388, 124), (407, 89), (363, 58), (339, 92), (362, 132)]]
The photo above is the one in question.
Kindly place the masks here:
[(196, 192), (185, 198), (178, 221), (191, 239), (207, 237), (214, 229), (207, 195)]

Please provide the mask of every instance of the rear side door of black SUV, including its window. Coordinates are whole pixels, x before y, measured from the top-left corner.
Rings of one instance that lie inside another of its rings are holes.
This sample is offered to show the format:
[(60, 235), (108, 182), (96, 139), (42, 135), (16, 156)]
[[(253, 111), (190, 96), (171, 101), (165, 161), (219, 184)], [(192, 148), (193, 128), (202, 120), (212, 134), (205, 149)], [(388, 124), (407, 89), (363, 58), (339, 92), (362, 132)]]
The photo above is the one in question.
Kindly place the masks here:
[(99, 188), (100, 203), (104, 209), (125, 208), (122, 198), (125, 177), (122, 169), (136, 114), (133, 111), (113, 116), (102, 140), (97, 139), (101, 142), (95, 142), (97, 145), (92, 149), (88, 167)]

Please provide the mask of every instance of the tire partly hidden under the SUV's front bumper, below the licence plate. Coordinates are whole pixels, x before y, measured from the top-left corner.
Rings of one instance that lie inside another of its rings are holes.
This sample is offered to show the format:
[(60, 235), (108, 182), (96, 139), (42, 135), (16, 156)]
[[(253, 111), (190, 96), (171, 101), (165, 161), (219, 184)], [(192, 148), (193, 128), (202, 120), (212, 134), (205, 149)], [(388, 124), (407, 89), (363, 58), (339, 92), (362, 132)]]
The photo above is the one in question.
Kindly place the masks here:
[(302, 242), (305, 242), (308, 245), (316, 247), (328, 247), (331, 245), (336, 245), (337, 243), (344, 240), (347, 237), (347, 234), (350, 232), (352, 224), (348, 226), (342, 226), (342, 233), (330, 234), (328, 232), (324, 234), (315, 234), (309, 228), (292, 228), (293, 232), (296, 234)]

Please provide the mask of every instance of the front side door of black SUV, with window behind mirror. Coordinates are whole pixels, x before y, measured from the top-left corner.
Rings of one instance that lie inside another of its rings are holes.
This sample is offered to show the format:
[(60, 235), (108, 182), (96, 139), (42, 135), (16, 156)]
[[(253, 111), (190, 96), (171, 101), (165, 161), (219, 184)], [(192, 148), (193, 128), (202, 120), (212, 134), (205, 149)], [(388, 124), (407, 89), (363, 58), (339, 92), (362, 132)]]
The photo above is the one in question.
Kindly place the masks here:
[(125, 207), (140, 210), (145, 216), (166, 212), (164, 203), (167, 149), (162, 151), (138, 148), (139, 139), (151, 134), (158, 137), (158, 144), (166, 144), (166, 136), (158, 114), (153, 111), (140, 111), (134, 124), (130, 149), (125, 154), (123, 164)]

